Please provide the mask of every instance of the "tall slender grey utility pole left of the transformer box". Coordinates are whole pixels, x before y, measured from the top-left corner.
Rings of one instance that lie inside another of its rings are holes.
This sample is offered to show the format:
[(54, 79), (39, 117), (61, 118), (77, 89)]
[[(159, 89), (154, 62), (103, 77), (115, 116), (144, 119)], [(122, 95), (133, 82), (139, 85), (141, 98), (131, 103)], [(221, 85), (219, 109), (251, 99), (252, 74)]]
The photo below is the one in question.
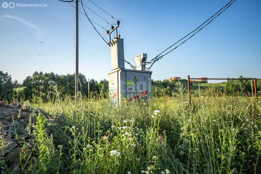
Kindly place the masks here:
[(78, 37), (78, 1), (75, 1), (75, 105), (77, 104), (77, 93), (78, 93), (78, 71), (79, 71), (79, 37)]

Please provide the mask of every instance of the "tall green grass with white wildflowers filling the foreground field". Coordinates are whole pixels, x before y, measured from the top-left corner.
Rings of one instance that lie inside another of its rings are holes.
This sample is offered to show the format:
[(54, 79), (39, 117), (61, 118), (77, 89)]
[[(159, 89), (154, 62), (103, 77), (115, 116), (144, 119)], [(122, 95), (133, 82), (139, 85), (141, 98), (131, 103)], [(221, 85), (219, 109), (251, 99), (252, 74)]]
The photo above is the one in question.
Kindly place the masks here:
[(213, 93), (192, 96), (191, 106), (187, 99), (180, 87), (177, 97), (119, 107), (84, 97), (75, 106), (58, 94), (34, 103), (39, 159), (21, 166), (32, 173), (260, 173), (261, 99)]

